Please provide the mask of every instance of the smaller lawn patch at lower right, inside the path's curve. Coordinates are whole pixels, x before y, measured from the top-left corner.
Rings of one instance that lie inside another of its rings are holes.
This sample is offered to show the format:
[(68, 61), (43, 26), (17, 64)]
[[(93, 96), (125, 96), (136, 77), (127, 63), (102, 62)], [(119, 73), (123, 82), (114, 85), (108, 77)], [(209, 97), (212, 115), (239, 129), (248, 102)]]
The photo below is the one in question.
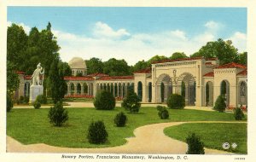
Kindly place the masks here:
[(201, 137), (201, 141), (205, 143), (206, 148), (214, 148), (224, 150), (222, 145), (234, 142), (237, 148), (226, 150), (234, 153), (247, 153), (247, 124), (246, 123), (190, 123), (179, 124), (166, 128), (164, 130), (167, 136), (171, 136), (177, 140), (185, 142), (189, 133), (195, 132)]

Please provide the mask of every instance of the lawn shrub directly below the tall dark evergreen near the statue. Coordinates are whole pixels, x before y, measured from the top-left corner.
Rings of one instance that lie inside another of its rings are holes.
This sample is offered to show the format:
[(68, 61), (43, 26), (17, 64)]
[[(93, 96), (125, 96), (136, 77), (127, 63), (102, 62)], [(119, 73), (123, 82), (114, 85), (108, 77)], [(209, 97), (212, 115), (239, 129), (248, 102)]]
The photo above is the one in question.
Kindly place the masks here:
[(48, 118), (49, 123), (55, 126), (61, 126), (67, 121), (67, 110), (63, 108), (61, 101), (58, 101), (54, 107), (49, 108)]

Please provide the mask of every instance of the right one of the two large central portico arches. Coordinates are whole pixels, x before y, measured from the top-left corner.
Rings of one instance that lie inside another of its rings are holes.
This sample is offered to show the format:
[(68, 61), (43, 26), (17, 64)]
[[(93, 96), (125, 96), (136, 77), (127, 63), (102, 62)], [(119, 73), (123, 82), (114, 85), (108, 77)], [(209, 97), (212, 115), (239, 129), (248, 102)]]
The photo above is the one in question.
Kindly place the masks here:
[(177, 78), (177, 93), (185, 97), (185, 103), (189, 106), (195, 105), (195, 78), (189, 72), (183, 72)]

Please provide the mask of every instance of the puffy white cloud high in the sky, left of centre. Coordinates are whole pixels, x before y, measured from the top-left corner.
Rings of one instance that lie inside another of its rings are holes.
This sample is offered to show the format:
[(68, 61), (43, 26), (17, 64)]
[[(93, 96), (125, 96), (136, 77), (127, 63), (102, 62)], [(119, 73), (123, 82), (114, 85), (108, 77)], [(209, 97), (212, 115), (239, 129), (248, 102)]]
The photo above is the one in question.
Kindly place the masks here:
[(96, 22), (93, 32), (97, 38), (122, 38), (124, 36), (130, 36), (130, 33), (125, 29), (114, 31), (108, 24), (102, 23), (101, 21)]

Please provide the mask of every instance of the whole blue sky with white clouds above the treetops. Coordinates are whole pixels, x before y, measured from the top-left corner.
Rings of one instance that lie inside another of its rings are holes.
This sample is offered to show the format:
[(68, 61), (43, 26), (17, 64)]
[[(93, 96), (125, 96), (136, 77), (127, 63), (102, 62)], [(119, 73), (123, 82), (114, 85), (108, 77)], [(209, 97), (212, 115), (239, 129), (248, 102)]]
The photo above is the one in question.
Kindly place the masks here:
[(27, 34), (48, 22), (67, 62), (114, 57), (134, 65), (154, 55), (189, 56), (218, 38), (247, 51), (246, 8), (8, 7), (8, 26), (16, 23)]

